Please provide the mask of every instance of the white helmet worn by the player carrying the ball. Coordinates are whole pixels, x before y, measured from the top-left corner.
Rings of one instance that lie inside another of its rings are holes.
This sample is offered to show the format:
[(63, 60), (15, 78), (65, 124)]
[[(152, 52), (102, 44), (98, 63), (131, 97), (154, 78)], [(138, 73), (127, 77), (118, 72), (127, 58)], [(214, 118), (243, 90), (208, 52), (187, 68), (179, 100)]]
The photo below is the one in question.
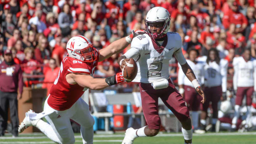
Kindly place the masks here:
[[(161, 33), (152, 32), (150, 30), (150, 23), (159, 23), (162, 22), (162, 31)], [(154, 39), (162, 38), (166, 35), (166, 33), (170, 29), (170, 13), (164, 7), (153, 7), (150, 9), (146, 15), (145, 19), (146, 31), (148, 32), (149, 36)]]

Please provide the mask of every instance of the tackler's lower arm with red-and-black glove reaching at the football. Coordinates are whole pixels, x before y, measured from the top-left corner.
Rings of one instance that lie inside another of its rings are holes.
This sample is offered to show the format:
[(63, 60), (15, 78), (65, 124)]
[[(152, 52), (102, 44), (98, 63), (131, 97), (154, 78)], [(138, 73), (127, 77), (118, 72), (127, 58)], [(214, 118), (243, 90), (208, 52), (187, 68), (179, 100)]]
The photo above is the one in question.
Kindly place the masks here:
[(102, 90), (110, 85), (119, 84), (124, 81), (122, 73), (107, 78), (93, 78), (91, 75), (67, 74), (66, 81), (69, 84), (79, 84), (81, 87), (87, 87), (91, 90)]

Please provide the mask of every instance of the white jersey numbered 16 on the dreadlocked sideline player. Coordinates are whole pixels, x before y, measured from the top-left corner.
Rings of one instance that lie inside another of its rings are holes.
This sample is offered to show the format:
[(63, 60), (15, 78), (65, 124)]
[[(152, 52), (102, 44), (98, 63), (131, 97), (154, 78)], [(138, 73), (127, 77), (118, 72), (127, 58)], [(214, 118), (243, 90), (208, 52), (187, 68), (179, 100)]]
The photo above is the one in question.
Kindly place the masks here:
[(204, 84), (207, 87), (222, 86), (222, 91), (226, 92), (228, 61), (220, 59), (220, 63), (215, 61), (206, 63), (204, 66)]

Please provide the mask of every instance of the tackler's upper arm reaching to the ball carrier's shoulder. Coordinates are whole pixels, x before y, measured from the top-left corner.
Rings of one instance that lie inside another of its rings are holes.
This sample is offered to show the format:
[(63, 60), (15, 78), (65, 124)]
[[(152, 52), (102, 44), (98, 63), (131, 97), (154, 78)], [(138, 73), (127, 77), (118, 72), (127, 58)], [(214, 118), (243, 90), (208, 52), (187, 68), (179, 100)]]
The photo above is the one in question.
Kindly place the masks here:
[(124, 48), (126, 48), (131, 42), (132, 39), (139, 34), (143, 34), (143, 30), (136, 30), (132, 31), (132, 34), (130, 34), (127, 37), (123, 37), (121, 39), (118, 39), (117, 41), (112, 42), (109, 46), (106, 48), (102, 48), (99, 50), (99, 61), (102, 61), (104, 59), (107, 59), (111, 57), (111, 55), (120, 53)]

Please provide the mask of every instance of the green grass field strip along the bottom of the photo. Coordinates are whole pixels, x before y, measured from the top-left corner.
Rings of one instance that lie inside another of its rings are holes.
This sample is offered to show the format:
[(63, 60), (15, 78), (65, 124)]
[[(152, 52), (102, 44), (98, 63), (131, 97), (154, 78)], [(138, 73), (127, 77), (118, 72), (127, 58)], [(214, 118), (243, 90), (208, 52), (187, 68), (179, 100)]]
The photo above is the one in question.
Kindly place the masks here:
[[(121, 144), (124, 134), (95, 134), (94, 144)], [(75, 144), (82, 144), (82, 138), (75, 134)], [(12, 138), (11, 135), (0, 137), (0, 144), (53, 144), (43, 134), (20, 134)], [(134, 144), (184, 144), (181, 133), (165, 133), (156, 137), (141, 137)], [(256, 132), (249, 133), (207, 133), (194, 134), (193, 144), (256, 144)]]

